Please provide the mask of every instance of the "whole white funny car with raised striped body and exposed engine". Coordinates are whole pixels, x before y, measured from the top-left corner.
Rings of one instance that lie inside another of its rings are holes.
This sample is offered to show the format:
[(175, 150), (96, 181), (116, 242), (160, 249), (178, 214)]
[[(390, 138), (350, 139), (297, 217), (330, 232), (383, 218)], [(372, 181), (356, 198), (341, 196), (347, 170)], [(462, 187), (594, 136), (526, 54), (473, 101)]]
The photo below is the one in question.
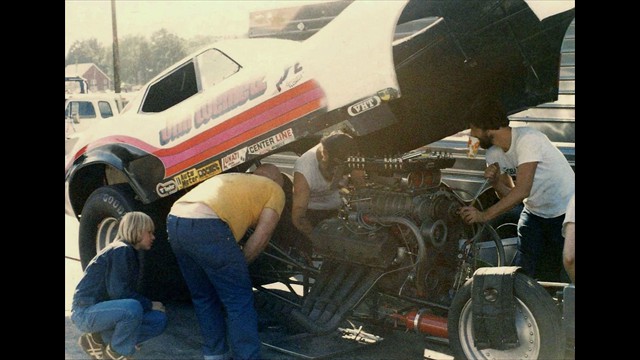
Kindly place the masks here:
[[(570, 6), (544, 13), (538, 3), (353, 1), (303, 41), (225, 40), (192, 53), (147, 83), (113, 121), (70, 140), (65, 212), (80, 222), (83, 267), (113, 240), (124, 213), (145, 211), (157, 231), (141, 259), (141, 291), (184, 296), (164, 231), (173, 201), (217, 174), (247, 171), (279, 152), (301, 154), (341, 127), (359, 143), (349, 166), (392, 184), (357, 189), (341, 217), (319, 225), (317, 262), (291, 256), (280, 241), (291, 247), (295, 239), (276, 234), (255, 264), (257, 288), (289, 282), (289, 275), (311, 280), (301, 295), (273, 298), (292, 306), (287, 318), (312, 333), (335, 330), (365, 302), (389, 304), (392, 294), (411, 306), (385, 306), (393, 311), (371, 318), (429, 328), (449, 337), (462, 357), (557, 354), (560, 327), (549, 292), (501, 266), (505, 251), (495, 231), (455, 216), (465, 201), (439, 178), (453, 159), (413, 152), (466, 129), (480, 95), (499, 99), (509, 114), (557, 99), (560, 47), (575, 9), (563, 1)], [(420, 26), (396, 36), (410, 23)], [(492, 260), (476, 256), (480, 242), (494, 244)], [(483, 299), (471, 287), (476, 277), (487, 301), (502, 305), (476, 307)], [(494, 292), (505, 278), (511, 296)], [(340, 306), (327, 308), (322, 299)], [(509, 306), (518, 310), (509, 321), (491, 315)], [(506, 330), (487, 333), (479, 323)]]

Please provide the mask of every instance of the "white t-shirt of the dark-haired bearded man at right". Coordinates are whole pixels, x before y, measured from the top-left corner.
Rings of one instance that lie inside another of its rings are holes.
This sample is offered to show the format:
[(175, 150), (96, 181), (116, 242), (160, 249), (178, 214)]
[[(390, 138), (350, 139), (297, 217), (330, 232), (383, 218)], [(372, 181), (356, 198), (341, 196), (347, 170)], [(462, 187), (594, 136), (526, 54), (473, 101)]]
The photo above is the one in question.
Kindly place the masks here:
[(537, 162), (531, 193), (523, 201), (525, 208), (547, 219), (566, 212), (575, 191), (576, 175), (545, 134), (528, 127), (512, 128), (509, 151), (505, 153), (494, 145), (487, 150), (486, 159), (487, 164), (498, 162), (501, 172), (511, 176), (517, 176), (518, 165)]

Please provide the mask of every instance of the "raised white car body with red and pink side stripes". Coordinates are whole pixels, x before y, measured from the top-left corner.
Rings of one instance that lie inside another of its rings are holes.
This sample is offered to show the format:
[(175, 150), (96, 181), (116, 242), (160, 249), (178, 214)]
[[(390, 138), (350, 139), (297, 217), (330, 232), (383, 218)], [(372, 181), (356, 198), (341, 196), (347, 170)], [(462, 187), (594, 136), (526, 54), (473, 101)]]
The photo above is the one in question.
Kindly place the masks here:
[[(83, 265), (124, 212), (153, 213), (162, 229), (186, 189), (304, 151), (334, 125), (350, 128), (365, 155), (397, 154), (465, 129), (480, 94), (509, 113), (554, 100), (574, 17), (570, 8), (541, 20), (522, 0), (354, 1), (304, 41), (228, 40), (191, 54), (65, 156), (65, 212), (79, 217)], [(425, 25), (396, 38), (413, 21)], [(164, 261), (156, 235), (145, 256)], [(177, 272), (148, 263), (156, 284)]]

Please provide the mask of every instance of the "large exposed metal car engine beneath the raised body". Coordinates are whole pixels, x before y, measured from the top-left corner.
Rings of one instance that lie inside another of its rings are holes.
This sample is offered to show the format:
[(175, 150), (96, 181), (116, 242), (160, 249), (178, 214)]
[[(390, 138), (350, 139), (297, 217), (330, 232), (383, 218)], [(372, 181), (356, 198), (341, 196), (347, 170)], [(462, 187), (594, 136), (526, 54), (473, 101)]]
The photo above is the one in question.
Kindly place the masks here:
[(440, 182), (441, 169), (453, 162), (441, 154), (350, 158), (349, 167), (365, 170), (366, 185), (344, 196), (338, 218), (315, 227), (314, 251), (392, 273), (380, 283), (393, 291), (411, 284), (411, 296), (446, 295), (464, 228), (463, 201)]

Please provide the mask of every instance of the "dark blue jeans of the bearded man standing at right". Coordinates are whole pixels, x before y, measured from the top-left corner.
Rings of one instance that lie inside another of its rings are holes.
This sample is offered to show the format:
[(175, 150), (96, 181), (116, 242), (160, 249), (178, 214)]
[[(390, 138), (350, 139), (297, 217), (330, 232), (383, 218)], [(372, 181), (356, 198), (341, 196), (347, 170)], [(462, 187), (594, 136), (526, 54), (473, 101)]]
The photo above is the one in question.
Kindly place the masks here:
[(518, 221), (520, 245), (514, 265), (521, 266), (530, 277), (541, 281), (570, 282), (562, 265), (562, 222), (564, 215), (545, 219), (526, 208)]

